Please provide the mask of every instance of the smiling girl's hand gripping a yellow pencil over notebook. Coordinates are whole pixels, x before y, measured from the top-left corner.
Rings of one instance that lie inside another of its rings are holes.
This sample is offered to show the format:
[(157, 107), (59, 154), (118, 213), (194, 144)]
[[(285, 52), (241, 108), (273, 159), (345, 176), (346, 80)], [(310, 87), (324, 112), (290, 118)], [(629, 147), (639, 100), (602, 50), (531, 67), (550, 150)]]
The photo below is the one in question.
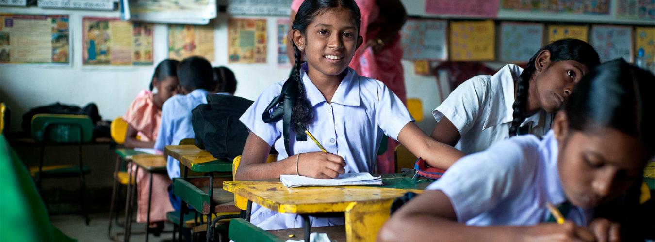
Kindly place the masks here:
[(300, 155), (300, 175), (318, 179), (333, 179), (346, 173), (346, 161), (341, 156), (324, 152), (310, 152)]

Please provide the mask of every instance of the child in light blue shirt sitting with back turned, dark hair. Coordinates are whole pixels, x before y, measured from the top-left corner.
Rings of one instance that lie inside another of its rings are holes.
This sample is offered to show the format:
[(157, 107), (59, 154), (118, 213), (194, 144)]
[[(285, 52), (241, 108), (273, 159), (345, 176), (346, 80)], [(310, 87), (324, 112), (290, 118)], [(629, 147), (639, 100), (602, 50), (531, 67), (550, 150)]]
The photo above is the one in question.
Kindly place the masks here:
[[(174, 95), (162, 107), (162, 121), (155, 148), (161, 152), (166, 145), (178, 145), (182, 139), (195, 137), (191, 126), (191, 111), (200, 103), (207, 103), (208, 90), (214, 90), (214, 73), (209, 61), (202, 57), (185, 58), (178, 66), (179, 94)], [(168, 157), (166, 164), (168, 177), (180, 177), (179, 162)], [(181, 200), (169, 190), (173, 208), (179, 211)]]

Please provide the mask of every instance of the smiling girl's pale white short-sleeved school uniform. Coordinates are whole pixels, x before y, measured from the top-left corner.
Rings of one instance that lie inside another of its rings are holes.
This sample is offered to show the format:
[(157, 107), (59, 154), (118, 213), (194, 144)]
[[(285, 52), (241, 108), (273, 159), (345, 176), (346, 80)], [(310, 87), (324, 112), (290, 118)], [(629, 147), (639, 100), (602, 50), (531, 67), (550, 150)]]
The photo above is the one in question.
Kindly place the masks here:
[[(327, 103), (309, 80), (307, 63), (301, 67), (300, 78), (305, 84), (307, 99), (314, 115), (309, 131), (327, 152), (344, 158), (346, 173), (372, 171), (383, 135), (398, 140), (400, 130), (407, 123), (413, 122), (405, 105), (383, 82), (357, 75), (350, 67), (345, 70), (347, 73), (331, 103)], [(262, 120), (262, 113), (271, 100), (280, 95), (283, 85), (284, 81), (269, 86), (240, 118), (248, 130), (269, 145), (274, 145), (280, 153), (278, 160), (288, 157), (282, 137), (282, 120), (267, 124)], [(321, 151), (309, 137), (307, 141), (295, 141), (295, 133), (289, 133), (291, 155)], [(340, 222), (328, 220), (330, 218), (312, 217), (312, 226), (343, 224), (343, 218), (339, 219)], [(265, 230), (302, 227), (300, 216), (278, 214), (255, 204), (251, 222)]]

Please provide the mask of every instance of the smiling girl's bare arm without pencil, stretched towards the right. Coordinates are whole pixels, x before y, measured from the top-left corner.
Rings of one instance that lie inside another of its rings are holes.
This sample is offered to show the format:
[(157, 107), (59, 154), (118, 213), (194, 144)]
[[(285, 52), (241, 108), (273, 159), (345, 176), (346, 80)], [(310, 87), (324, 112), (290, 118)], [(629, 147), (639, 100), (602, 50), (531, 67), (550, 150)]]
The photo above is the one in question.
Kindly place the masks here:
[(464, 157), (464, 153), (457, 148), (440, 143), (423, 133), (423, 131), (409, 122), (398, 133), (398, 141), (417, 157), (423, 158), (428, 165), (439, 169), (448, 169), (457, 160)]

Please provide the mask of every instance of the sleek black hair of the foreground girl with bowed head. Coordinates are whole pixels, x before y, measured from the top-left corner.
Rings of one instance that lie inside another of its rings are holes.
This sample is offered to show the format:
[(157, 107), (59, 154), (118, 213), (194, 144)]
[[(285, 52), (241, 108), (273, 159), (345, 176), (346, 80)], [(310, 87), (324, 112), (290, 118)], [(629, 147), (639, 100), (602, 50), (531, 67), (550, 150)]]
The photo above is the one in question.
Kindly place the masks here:
[(655, 152), (655, 76), (622, 58), (586, 75), (564, 103), (571, 130), (610, 127), (635, 137)]

